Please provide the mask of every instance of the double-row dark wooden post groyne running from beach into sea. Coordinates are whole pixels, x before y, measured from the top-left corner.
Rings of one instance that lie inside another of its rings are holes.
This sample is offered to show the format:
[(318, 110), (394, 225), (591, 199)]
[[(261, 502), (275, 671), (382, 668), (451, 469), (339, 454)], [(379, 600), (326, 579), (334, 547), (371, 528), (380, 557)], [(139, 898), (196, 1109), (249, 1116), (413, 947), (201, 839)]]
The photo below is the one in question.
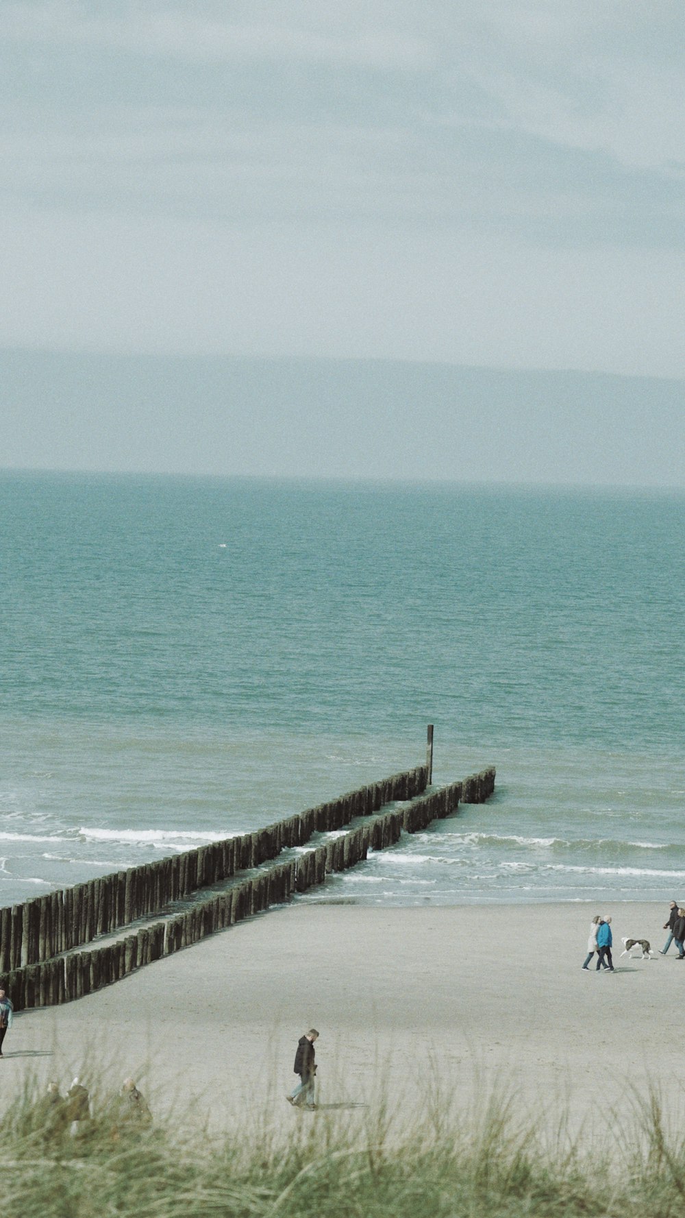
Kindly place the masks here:
[[(448, 816), (460, 801), (484, 803), (494, 782), (489, 769), (425, 794), (427, 767), (417, 766), (254, 833), (5, 907), (0, 976), (15, 1010), (82, 998), (280, 905), (322, 883), (327, 872), (354, 867), (370, 849), (392, 845), (402, 832)], [(387, 804), (402, 806), (383, 812)], [(303, 849), (314, 834), (326, 833), (335, 836)], [(281, 862), (283, 854), (288, 857)]]

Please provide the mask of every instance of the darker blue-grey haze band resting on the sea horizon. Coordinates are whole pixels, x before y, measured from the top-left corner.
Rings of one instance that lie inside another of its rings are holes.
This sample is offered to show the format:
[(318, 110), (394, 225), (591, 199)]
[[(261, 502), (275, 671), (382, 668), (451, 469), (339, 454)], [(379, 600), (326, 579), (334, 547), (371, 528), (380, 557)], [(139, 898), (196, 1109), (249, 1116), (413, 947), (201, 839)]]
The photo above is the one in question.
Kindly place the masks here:
[(685, 487), (685, 382), (370, 359), (0, 353), (0, 465)]

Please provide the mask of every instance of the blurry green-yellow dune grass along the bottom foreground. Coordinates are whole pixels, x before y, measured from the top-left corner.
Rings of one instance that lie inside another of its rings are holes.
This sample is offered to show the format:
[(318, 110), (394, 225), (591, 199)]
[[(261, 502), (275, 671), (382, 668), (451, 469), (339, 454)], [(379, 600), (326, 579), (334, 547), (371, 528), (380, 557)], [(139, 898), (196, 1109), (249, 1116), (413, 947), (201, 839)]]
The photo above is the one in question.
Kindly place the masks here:
[[(399, 1133), (381, 1095), (364, 1113), (253, 1114), (210, 1139), (179, 1108), (151, 1127), (119, 1119), (94, 1088), (78, 1132), (45, 1119), (28, 1082), (0, 1122), (0, 1189), (22, 1218), (675, 1218), (685, 1145), (656, 1093), (635, 1096), (630, 1129), (580, 1152), (515, 1114), (506, 1088), (455, 1116), (434, 1091)], [(282, 1100), (282, 1097), (281, 1097)], [(406, 1113), (405, 1113), (406, 1116)], [(290, 1114), (288, 1114), (290, 1117)], [(354, 1119), (353, 1119), (354, 1117)], [(610, 1122), (611, 1125), (611, 1122)], [(558, 1130), (563, 1127), (560, 1118)]]

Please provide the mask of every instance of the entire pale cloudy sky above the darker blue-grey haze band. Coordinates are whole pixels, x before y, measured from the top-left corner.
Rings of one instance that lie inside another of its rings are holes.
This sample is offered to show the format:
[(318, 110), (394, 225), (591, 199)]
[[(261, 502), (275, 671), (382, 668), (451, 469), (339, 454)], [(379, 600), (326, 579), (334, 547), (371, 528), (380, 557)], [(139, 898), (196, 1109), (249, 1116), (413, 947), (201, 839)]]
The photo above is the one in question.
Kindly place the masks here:
[(684, 35), (681, 0), (2, 0), (0, 351), (616, 374), (670, 418)]

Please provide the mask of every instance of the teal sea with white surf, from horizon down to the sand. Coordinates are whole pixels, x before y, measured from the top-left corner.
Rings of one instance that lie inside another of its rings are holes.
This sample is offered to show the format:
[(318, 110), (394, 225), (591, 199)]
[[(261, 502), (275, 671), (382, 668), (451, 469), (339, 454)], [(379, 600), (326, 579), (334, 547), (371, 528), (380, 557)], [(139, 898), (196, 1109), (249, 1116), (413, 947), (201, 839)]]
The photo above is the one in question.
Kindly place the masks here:
[(685, 497), (0, 474), (0, 904), (425, 758), (307, 900), (685, 899)]

